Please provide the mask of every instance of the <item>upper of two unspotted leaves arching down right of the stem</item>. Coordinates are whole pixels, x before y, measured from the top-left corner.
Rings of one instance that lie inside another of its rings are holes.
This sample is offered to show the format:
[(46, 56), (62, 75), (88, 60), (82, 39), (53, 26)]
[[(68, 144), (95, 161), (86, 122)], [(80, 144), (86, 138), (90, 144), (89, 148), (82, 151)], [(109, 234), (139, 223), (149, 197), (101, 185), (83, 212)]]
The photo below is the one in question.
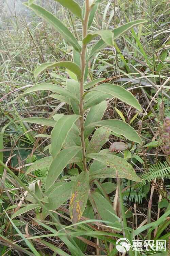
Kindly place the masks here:
[(101, 84), (93, 89), (90, 89), (87, 92), (87, 94), (90, 91), (99, 91), (103, 94), (106, 94), (106, 96), (110, 95), (109, 98), (113, 98), (113, 97), (118, 98), (119, 100), (122, 100), (123, 102), (133, 106), (134, 108), (142, 112), (142, 108), (139, 102), (137, 101), (137, 99), (133, 96), (133, 94), (119, 85)]

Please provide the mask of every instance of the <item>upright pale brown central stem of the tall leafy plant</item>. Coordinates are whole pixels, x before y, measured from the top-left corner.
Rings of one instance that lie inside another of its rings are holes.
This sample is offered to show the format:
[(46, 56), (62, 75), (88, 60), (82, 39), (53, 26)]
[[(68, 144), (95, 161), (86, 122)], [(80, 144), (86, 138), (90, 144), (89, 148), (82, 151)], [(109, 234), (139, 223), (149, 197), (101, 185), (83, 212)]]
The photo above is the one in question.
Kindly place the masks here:
[[(84, 39), (87, 35), (88, 30), (88, 20), (89, 20), (89, 14), (90, 14), (90, 4), (89, 0), (85, 1), (85, 16), (82, 22), (82, 38)], [(86, 44), (82, 44), (82, 52), (81, 52), (81, 71), (82, 71), (82, 77), (80, 79), (80, 104), (79, 104), (79, 112), (81, 115), (80, 118), (80, 129), (81, 129), (81, 145), (82, 145), (82, 161), (83, 161), (83, 167), (84, 171), (87, 171), (87, 165), (86, 165), (86, 151), (85, 151), (85, 141), (84, 141), (84, 108), (83, 108), (83, 94), (84, 94), (84, 74), (86, 69)]]

